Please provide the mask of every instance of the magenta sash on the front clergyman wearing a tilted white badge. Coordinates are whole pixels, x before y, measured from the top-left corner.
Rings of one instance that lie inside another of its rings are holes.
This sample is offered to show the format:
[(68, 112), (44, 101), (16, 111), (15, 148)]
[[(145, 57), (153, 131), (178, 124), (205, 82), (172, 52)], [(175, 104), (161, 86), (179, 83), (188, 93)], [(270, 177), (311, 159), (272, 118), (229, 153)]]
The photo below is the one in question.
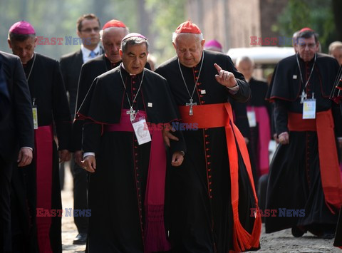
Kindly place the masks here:
[[(127, 110), (121, 111), (119, 124), (105, 125), (105, 132), (134, 132)], [(140, 110), (137, 118), (145, 116)], [(145, 192), (145, 252), (164, 252), (170, 249), (164, 226), (166, 151), (161, 130), (150, 130), (151, 150)]]

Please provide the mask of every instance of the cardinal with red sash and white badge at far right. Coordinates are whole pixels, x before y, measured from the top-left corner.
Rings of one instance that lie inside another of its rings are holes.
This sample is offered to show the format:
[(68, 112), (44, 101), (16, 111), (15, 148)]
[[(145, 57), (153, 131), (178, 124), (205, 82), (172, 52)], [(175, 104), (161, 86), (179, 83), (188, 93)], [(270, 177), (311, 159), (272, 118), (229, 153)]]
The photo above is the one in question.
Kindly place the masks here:
[[(266, 198), (266, 209), (278, 215), (265, 217), (266, 232), (292, 227), (295, 237), (309, 231), (331, 238), (342, 204), (336, 150), (341, 115), (329, 100), (338, 63), (316, 53), (311, 29), (302, 29), (298, 40), (299, 53), (279, 62), (270, 93), (281, 144), (270, 165)], [(315, 118), (303, 119), (310, 101), (316, 101)]]

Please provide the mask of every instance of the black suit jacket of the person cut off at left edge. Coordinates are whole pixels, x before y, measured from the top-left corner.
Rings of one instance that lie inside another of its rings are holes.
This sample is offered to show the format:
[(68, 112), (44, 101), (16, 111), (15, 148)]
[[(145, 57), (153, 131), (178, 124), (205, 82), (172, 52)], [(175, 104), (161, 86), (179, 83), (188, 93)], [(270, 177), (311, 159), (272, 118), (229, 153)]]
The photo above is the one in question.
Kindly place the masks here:
[(0, 122), (0, 155), (16, 160), (19, 148), (34, 147), (32, 103), (20, 58), (0, 51), (11, 105)]

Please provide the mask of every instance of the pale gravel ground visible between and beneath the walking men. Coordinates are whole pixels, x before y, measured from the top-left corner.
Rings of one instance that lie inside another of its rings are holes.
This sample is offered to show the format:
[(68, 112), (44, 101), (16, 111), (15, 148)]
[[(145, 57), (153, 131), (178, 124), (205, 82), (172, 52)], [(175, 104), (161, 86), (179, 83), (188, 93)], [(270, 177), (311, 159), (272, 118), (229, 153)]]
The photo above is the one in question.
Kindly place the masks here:
[[(62, 201), (64, 208), (73, 208), (73, 182), (71, 172), (66, 167), (66, 180), (64, 190), (62, 191)], [(73, 239), (78, 234), (73, 217), (62, 218), (62, 242), (63, 252), (84, 252), (85, 245), (73, 245)], [(291, 229), (286, 229), (272, 234), (264, 233), (264, 226), (262, 228), (261, 249), (258, 252), (342, 252), (341, 249), (333, 247), (333, 239), (317, 239), (314, 235), (304, 234), (303, 237), (295, 238), (291, 235)], [(100, 253), (100, 252), (99, 252)], [(133, 252), (134, 253), (134, 252)]]

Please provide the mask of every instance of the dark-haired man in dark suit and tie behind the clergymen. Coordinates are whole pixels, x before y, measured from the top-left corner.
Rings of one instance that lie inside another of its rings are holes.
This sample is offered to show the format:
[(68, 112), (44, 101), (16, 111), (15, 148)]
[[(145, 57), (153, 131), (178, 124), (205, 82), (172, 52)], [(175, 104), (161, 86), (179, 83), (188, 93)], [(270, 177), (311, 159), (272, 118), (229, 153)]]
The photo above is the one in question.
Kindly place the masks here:
[[(69, 93), (69, 105), (71, 116), (75, 114), (78, 78), (81, 67), (91, 58), (103, 53), (100, 47), (100, 21), (94, 14), (81, 16), (77, 21), (77, 35), (82, 40), (81, 49), (61, 57), (61, 71)], [(64, 171), (61, 165), (61, 173)], [(74, 208), (87, 209), (87, 173), (71, 160), (71, 172), (73, 174)], [(63, 180), (63, 177), (62, 177)], [(75, 217), (78, 235), (73, 244), (86, 244), (88, 232), (88, 217)]]

